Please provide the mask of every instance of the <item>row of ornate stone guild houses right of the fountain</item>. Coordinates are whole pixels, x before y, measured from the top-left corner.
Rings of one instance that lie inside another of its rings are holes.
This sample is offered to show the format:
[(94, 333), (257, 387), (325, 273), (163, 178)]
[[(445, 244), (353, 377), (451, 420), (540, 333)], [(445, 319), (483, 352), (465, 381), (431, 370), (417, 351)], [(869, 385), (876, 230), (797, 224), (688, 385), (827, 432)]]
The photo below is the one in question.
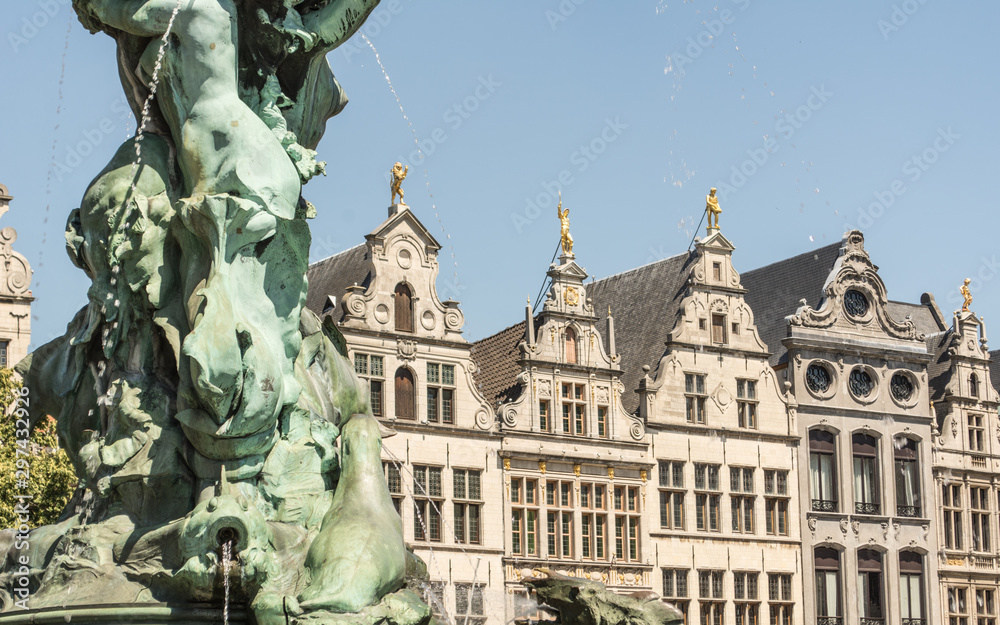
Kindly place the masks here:
[(475, 343), (405, 204), (310, 268), (434, 611), (550, 619), (521, 581), (551, 570), (687, 623), (996, 625), (997, 358), (970, 298), (889, 299), (857, 231), (741, 274), (713, 199), (690, 251), (589, 282), (560, 210), (544, 300)]

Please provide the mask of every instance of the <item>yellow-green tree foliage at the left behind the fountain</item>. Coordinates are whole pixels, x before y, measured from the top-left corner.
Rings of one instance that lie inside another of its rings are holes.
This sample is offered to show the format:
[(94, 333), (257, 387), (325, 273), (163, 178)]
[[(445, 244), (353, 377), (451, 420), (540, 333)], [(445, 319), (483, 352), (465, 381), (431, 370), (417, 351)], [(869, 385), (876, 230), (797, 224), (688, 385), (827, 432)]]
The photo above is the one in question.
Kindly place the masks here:
[[(21, 381), (14, 372), (0, 368), (0, 501), (5, 504), (0, 506), (0, 528), (20, 525), (14, 514), (15, 496), (18, 495), (32, 497), (28, 500), (30, 527), (54, 523), (78, 482), (66, 452), (59, 448), (55, 419), (40, 420), (30, 438), (20, 442), (24, 440), (24, 432), (18, 429), (25, 421), (18, 423), (17, 408), (23, 406), (23, 402), (16, 402), (22, 397), (21, 389)], [(33, 399), (30, 389), (23, 396), (28, 401)], [(20, 467), (18, 460), (22, 461)], [(22, 482), (24, 474), (18, 471), (24, 471), (24, 460), (29, 466), (27, 479)]]

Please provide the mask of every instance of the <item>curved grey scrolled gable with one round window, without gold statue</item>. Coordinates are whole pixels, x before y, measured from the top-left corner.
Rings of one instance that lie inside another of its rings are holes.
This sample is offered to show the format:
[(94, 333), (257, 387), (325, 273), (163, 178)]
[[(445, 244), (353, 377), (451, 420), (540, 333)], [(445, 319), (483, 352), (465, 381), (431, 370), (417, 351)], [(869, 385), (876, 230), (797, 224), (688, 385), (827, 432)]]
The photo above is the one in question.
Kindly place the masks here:
[(897, 321), (889, 314), (885, 283), (864, 247), (864, 235), (852, 230), (844, 235), (840, 258), (824, 287), (819, 310), (803, 305), (790, 316), (793, 326), (836, 330), (868, 338), (923, 341), (909, 318)]

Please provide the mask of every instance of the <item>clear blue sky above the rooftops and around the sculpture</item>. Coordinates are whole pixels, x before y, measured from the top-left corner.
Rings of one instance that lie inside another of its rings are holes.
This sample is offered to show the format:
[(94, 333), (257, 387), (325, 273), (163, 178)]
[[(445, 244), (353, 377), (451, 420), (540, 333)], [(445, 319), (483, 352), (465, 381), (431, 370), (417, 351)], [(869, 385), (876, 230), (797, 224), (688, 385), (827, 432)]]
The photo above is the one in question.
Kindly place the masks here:
[[(320, 145), (329, 176), (305, 190), (319, 209), (313, 260), (385, 218), (386, 172), (407, 160), (407, 202), (444, 245), (439, 289), (476, 339), (537, 293), (559, 187), (577, 258), (601, 277), (685, 250), (709, 187), (725, 183), (738, 269), (861, 225), (892, 299), (930, 291), (947, 315), (971, 277), (989, 323), (997, 23), (986, 0), (384, 1), (364, 32), (427, 156), (410, 159), (414, 135), (368, 46), (334, 51), (351, 102)], [(0, 181), (15, 196), (0, 225), (35, 269), (37, 346), (85, 303), (63, 225), (134, 120), (112, 41), (89, 35), (69, 0), (6, 2), (0, 31)]]

